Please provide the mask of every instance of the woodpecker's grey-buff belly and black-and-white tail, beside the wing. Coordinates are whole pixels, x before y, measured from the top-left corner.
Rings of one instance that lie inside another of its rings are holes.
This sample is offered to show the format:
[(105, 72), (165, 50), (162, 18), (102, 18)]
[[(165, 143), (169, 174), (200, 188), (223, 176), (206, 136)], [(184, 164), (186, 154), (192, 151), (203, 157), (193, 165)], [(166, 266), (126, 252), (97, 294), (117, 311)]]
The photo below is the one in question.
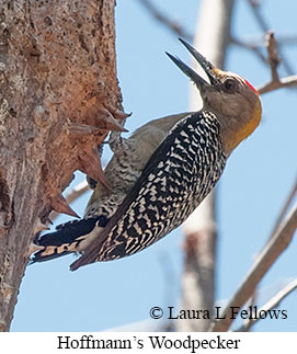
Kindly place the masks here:
[(83, 251), (95, 235), (93, 232), (95, 224), (105, 227), (141, 174), (152, 152), (175, 123), (190, 114), (192, 113), (186, 112), (150, 121), (136, 129), (128, 139), (123, 138), (121, 134), (112, 133), (108, 144), (114, 155), (104, 169), (108, 187), (101, 183), (89, 182), (94, 192), (87, 205), (83, 219), (58, 225), (56, 231), (37, 238), (35, 243), (41, 250), (33, 255), (31, 263)]

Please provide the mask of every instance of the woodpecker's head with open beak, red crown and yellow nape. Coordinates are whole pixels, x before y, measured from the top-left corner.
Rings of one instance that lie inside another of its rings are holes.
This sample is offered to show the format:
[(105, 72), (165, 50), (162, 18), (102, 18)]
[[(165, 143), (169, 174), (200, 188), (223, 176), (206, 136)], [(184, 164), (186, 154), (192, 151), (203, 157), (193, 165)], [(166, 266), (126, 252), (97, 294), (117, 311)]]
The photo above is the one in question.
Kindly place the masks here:
[(180, 39), (206, 72), (209, 83), (178, 57), (168, 54), (197, 85), (203, 110), (213, 112), (220, 123), (224, 150), (229, 155), (256, 128), (262, 106), (258, 91), (239, 75), (216, 68), (190, 44)]

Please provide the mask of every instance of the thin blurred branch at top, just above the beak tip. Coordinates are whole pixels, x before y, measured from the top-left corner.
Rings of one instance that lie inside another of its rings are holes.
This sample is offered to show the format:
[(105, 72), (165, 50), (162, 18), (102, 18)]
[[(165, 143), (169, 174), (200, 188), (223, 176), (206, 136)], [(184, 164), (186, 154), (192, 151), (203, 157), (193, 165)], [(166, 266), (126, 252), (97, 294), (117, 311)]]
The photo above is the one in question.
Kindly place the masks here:
[(164, 25), (168, 30), (173, 32), (180, 37), (183, 37), (187, 41), (193, 39), (193, 35), (187, 33), (178, 22), (169, 19), (165, 16), (157, 7), (152, 4), (150, 0), (138, 0), (147, 10), (148, 12), (162, 25)]

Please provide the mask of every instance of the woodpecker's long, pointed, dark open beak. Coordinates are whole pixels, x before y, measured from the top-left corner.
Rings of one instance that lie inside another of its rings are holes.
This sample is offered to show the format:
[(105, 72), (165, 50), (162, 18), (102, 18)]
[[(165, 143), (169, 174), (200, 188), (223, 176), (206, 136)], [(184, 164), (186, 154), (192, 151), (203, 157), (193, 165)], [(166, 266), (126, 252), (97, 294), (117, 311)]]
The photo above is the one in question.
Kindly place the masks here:
[[(195, 60), (201, 65), (205, 73), (207, 75), (210, 84), (216, 84), (219, 82), (216, 73), (213, 71), (215, 66), (208, 61), (203, 55), (201, 55), (194, 47), (192, 47), (185, 41), (179, 38), (181, 43), (186, 47), (186, 49), (193, 55)], [(185, 65), (180, 58), (174, 57), (173, 55), (167, 53), (171, 60), (198, 87), (198, 89), (203, 89), (205, 87), (209, 87), (209, 83), (205, 81), (196, 71), (191, 69), (187, 65)]]

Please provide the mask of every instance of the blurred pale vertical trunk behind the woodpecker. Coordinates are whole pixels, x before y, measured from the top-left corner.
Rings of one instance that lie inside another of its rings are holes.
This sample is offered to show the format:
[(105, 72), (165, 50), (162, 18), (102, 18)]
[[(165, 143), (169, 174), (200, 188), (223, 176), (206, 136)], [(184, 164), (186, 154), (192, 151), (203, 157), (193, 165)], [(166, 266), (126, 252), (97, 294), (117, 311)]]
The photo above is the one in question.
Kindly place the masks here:
[[(204, 0), (199, 8), (194, 46), (219, 68), (224, 68), (225, 54), (230, 41), (233, 3), (233, 0)], [(190, 111), (196, 111), (201, 105), (197, 89), (191, 85)], [(183, 230), (185, 261), (181, 308), (208, 310), (213, 313), (217, 245), (214, 192), (187, 218)], [(210, 319), (180, 320), (176, 330), (206, 331), (209, 326)]]

